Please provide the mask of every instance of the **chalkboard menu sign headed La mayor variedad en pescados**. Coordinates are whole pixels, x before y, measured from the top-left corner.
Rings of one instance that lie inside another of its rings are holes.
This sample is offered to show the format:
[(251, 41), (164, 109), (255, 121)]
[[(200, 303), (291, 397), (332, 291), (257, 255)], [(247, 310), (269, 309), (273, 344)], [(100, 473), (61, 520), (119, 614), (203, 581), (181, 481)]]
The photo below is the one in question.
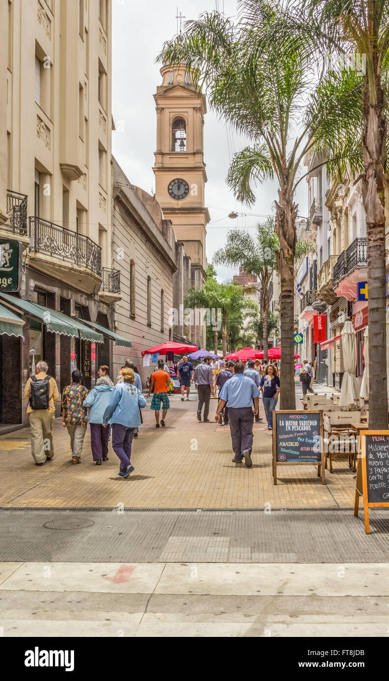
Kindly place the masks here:
[(322, 411), (273, 411), (273, 481), (277, 485), (277, 466), (315, 464), (317, 475), (324, 473)]

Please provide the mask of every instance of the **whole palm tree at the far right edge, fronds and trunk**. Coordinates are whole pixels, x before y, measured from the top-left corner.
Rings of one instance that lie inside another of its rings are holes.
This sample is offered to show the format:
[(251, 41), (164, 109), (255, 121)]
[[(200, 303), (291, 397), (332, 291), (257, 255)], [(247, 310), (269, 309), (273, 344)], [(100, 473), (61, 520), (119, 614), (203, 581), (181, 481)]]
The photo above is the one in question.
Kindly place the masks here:
[[(279, 25), (272, 40), (279, 44), (305, 42), (307, 52), (319, 52), (330, 66), (341, 59), (347, 75), (356, 80), (354, 108), (349, 121), (333, 121), (332, 130), (318, 140), (332, 155), (339, 146), (352, 150), (359, 144), (361, 157), (351, 156), (350, 166), (361, 183), (367, 221), (367, 268), (369, 286), (369, 391), (374, 394), (369, 408), (369, 426), (373, 430), (388, 428), (386, 388), (386, 290), (385, 290), (385, 187), (388, 172), (388, 0), (298, 0), (287, 3), (290, 14)], [(254, 3), (251, 3), (254, 5)], [(351, 67), (351, 72), (348, 69)], [(353, 104), (353, 102), (352, 102)], [(345, 125), (341, 125), (344, 122)], [(340, 143), (340, 144), (339, 144)], [(353, 162), (354, 161), (354, 162)], [(361, 161), (358, 163), (357, 161)], [(344, 172), (344, 164), (338, 165)]]

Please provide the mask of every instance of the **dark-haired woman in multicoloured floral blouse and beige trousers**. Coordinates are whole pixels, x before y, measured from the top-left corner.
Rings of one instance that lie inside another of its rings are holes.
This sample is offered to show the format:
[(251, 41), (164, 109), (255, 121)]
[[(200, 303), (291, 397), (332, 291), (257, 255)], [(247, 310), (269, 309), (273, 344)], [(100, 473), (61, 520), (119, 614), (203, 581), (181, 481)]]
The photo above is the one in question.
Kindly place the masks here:
[(83, 402), (88, 391), (81, 385), (82, 373), (72, 372), (72, 383), (62, 391), (62, 422), (70, 435), (70, 447), (72, 448), (72, 463), (81, 463), (82, 445), (87, 431), (88, 416)]

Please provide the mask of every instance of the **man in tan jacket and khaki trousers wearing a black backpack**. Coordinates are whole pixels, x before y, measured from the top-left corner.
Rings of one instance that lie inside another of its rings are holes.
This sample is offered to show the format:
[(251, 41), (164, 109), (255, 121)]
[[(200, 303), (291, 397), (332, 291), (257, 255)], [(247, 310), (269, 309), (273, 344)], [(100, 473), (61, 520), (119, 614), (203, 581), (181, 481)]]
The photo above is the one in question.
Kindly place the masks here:
[(57, 383), (48, 375), (46, 362), (37, 362), (35, 376), (25, 386), (25, 400), (29, 400), (27, 413), (31, 428), (31, 454), (37, 466), (43, 466), (54, 456), (52, 429), (55, 424), (55, 406), (59, 398)]

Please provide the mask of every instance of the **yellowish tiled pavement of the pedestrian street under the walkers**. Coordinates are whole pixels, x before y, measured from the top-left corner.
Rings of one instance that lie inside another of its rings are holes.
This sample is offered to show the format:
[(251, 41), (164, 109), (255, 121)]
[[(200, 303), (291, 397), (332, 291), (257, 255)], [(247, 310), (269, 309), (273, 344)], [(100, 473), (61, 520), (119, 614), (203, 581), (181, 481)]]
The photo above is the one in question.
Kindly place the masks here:
[[(210, 423), (196, 419), (196, 396), (171, 400), (166, 428), (155, 428), (150, 402), (142, 411), (144, 425), (134, 440), (131, 462), (135, 471), (118, 477), (118, 460), (110, 447), (110, 460), (95, 466), (89, 430), (84, 440), (82, 464), (70, 460), (69, 437), (61, 419), (55, 424), (55, 458), (33, 465), (29, 429), (0, 437), (0, 505), (13, 508), (126, 508), (146, 509), (256, 509), (350, 508), (354, 505), (354, 474), (345, 456), (326, 473), (327, 484), (317, 478), (315, 466), (283, 466), (277, 486), (271, 469), (271, 433), (254, 426), (253, 467), (232, 463), (230, 429), (213, 421), (216, 400), (211, 401)], [(263, 408), (262, 403), (262, 415)]]

